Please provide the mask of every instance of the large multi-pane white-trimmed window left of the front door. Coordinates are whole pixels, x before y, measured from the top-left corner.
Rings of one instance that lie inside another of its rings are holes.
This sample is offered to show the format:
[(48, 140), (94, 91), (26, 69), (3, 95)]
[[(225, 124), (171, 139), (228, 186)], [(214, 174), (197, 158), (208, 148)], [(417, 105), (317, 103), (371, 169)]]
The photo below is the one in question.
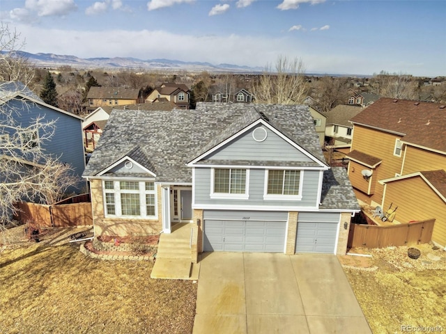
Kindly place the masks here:
[(104, 180), (105, 216), (156, 218), (153, 181)]

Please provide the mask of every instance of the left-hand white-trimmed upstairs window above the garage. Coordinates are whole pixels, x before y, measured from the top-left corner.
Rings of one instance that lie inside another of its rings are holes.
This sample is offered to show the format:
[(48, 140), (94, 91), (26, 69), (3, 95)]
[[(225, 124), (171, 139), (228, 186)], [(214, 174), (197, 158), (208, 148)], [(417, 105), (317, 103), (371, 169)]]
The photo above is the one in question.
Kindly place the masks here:
[(248, 198), (249, 170), (213, 168), (211, 173), (211, 198)]

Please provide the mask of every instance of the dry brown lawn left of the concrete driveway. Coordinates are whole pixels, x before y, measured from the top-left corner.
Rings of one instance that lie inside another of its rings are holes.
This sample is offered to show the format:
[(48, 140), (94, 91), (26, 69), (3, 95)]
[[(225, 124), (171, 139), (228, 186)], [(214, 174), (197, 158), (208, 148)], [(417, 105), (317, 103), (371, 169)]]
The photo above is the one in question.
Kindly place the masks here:
[(192, 333), (197, 284), (152, 280), (152, 267), (79, 244), (0, 250), (0, 333)]

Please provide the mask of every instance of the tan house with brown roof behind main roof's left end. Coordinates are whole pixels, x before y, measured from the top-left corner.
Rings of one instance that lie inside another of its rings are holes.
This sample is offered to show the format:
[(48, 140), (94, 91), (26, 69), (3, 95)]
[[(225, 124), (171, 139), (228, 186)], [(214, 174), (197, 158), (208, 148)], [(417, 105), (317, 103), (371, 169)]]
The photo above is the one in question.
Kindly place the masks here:
[(98, 106), (124, 106), (127, 104), (137, 104), (141, 90), (126, 89), (122, 87), (90, 87), (86, 96), (87, 102), (84, 104), (91, 111)]

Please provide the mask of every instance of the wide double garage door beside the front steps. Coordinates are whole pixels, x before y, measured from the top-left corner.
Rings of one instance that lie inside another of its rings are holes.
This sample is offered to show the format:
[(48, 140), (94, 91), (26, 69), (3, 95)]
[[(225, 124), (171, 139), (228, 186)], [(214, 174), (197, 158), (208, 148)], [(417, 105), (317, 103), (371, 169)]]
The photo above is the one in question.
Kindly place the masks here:
[(205, 210), (203, 218), (205, 252), (284, 252), (287, 212)]

